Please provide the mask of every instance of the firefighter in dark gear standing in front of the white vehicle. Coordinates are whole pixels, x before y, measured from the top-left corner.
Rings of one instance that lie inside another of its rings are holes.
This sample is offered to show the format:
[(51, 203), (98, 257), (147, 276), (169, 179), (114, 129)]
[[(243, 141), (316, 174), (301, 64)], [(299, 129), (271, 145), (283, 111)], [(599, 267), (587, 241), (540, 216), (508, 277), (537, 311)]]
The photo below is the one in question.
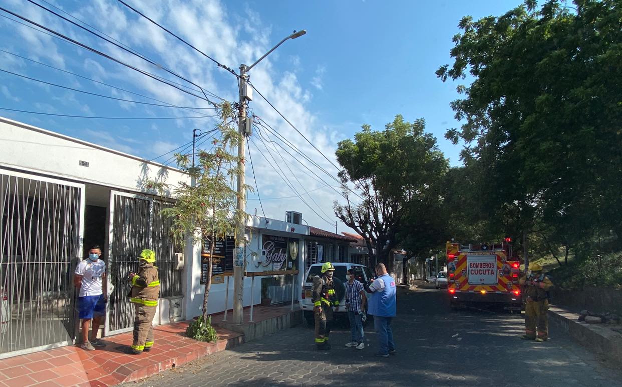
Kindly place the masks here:
[(330, 262), (322, 265), (321, 275), (313, 277), (313, 315), (315, 316), (315, 345), (318, 350), (329, 350), (330, 326), (333, 322), (333, 307), (339, 309), (339, 299), (335, 292), (335, 266)]

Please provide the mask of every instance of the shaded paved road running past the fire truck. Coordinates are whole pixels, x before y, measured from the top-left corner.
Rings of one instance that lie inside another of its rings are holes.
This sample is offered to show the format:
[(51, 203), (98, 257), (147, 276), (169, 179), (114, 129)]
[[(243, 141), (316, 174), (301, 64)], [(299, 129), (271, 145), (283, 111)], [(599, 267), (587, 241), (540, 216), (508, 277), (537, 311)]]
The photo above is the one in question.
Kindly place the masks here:
[(377, 358), (344, 347), (349, 329), (331, 335), (330, 352), (313, 347), (305, 325), (196, 360), (128, 386), (614, 386), (622, 373), (571, 339), (520, 340), (519, 314), (452, 311), (445, 291), (401, 290), (393, 330), (398, 353)]

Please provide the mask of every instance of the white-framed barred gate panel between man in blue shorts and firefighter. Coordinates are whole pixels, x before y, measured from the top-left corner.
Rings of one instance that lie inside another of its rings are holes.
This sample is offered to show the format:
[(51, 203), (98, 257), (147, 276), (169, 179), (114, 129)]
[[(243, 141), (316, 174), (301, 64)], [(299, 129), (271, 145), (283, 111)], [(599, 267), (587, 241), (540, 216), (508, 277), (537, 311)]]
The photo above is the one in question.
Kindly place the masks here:
[(109, 234), (109, 278), (114, 291), (108, 298), (106, 334), (123, 332), (134, 324), (134, 306), (129, 302), (128, 273), (138, 271), (138, 255), (151, 246), (151, 201), (141, 196), (111, 193)]

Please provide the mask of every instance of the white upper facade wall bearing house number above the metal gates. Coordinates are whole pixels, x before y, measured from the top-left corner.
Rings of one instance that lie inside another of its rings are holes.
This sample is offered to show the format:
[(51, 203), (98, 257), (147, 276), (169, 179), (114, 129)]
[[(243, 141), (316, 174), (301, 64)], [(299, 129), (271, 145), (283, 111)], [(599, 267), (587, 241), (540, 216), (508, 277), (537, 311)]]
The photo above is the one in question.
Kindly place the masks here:
[[(175, 185), (189, 182), (175, 168), (2, 117), (0, 150), (2, 166), (111, 188), (147, 192), (147, 178)], [(80, 161), (89, 166), (80, 166)]]

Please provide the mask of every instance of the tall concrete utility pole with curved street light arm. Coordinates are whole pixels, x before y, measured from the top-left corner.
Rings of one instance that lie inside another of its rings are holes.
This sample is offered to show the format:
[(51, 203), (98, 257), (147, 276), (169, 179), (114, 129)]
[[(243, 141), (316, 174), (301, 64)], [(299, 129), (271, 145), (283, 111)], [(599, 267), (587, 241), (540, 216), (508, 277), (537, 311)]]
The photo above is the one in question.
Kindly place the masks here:
[[(248, 88), (248, 71), (251, 70), (257, 63), (263, 58), (267, 57), (277, 47), (282, 45), (285, 40), (296, 39), (302, 35), (307, 34), (306, 30), (294, 31), (291, 35), (285, 37), (276, 46), (272, 47), (270, 51), (266, 52), (261, 58), (255, 61), (250, 66), (244, 64), (239, 66), (239, 114), (238, 114), (238, 130), (239, 134), (243, 136), (243, 140), (238, 146), (238, 200), (237, 206), (238, 213), (244, 212), (246, 207), (246, 193), (244, 192), (244, 138), (251, 134), (251, 127), (253, 125), (253, 119), (246, 117), (246, 106), (248, 101), (253, 100), (252, 89)], [(240, 219), (238, 222), (238, 240), (236, 259), (233, 266), (233, 323), (242, 324), (243, 322), (243, 297), (244, 297), (244, 222), (246, 219)], [(253, 300), (251, 299), (251, 303)]]

